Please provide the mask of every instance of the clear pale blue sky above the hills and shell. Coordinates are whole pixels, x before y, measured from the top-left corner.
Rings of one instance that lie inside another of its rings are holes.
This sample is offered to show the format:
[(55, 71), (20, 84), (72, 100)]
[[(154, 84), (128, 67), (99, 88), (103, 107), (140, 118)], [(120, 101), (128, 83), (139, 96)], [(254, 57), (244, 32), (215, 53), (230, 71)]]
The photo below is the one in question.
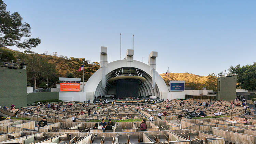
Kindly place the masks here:
[(256, 62), (256, 1), (64, 1), (4, 0), (31, 26), (42, 43), (34, 52), (100, 60), (100, 46), (111, 61), (132, 48), (134, 60), (157, 51), (158, 73), (197, 75)]

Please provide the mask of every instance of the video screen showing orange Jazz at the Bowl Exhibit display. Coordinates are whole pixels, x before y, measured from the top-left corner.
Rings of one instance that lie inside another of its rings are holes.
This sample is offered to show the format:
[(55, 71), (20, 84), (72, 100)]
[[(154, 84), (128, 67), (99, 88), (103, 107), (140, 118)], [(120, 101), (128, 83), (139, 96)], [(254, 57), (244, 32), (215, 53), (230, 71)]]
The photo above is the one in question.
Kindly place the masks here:
[(60, 81), (60, 91), (80, 91), (80, 82)]

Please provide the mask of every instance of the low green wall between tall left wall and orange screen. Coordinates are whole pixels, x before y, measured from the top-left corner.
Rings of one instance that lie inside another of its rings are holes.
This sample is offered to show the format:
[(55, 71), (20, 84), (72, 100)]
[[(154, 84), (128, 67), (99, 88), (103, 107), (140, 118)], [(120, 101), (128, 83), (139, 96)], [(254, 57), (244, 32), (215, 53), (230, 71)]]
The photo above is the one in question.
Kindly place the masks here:
[(27, 93), (27, 103), (34, 103), (41, 100), (59, 99), (59, 92), (35, 92)]

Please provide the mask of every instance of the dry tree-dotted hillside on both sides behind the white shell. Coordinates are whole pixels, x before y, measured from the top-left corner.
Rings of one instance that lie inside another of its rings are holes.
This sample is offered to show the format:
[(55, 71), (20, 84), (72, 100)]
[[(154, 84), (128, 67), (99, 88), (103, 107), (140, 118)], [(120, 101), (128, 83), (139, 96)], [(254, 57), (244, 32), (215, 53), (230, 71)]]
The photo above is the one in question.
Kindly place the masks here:
[[(13, 51), (9, 48), (0, 48), (1, 51)], [(27, 64), (27, 85), (33, 86), (35, 83), (37, 87), (46, 88), (47, 80), (49, 87), (56, 87), (58, 77), (75, 77), (81, 78), (83, 81), (83, 72), (77, 70), (83, 65), (85, 61), (84, 80), (100, 68), (98, 62), (89, 62), (85, 58), (68, 58), (64, 56), (38, 54), (34, 52), (16, 52), (3, 53), (3, 57), (8, 56), (9, 60), (17, 60), (20, 58)], [(160, 74), (167, 83), (167, 76), (165, 73)], [(169, 73), (169, 80), (186, 81), (185, 87), (195, 87), (195, 89), (202, 89), (206, 87), (209, 90), (216, 90), (217, 78), (214, 75), (199, 76), (191, 73)]]

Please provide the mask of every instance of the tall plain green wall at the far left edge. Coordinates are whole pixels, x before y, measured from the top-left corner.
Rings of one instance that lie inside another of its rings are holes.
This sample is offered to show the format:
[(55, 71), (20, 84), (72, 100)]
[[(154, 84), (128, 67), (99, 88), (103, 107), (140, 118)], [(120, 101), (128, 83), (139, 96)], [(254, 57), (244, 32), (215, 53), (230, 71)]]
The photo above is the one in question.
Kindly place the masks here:
[(27, 71), (0, 67), (0, 105), (27, 106)]

